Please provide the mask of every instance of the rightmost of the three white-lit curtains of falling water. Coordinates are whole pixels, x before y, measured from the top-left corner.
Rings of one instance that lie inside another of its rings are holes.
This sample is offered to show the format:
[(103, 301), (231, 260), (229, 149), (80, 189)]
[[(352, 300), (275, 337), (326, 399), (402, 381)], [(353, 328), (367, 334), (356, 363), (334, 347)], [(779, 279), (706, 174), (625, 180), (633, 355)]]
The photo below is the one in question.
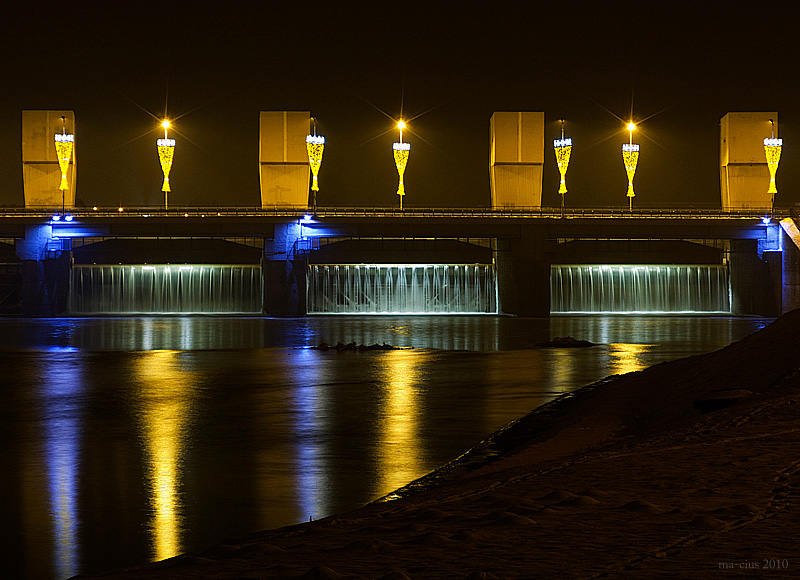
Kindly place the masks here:
[(556, 265), (552, 312), (730, 312), (725, 266)]

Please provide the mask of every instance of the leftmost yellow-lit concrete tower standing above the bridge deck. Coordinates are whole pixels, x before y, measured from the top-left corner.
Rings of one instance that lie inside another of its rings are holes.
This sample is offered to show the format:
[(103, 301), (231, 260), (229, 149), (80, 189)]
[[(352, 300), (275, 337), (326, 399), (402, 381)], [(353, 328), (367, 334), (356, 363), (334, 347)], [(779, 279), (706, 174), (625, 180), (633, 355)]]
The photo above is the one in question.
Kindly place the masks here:
[[(67, 133), (75, 134), (73, 111), (22, 111), (22, 184), (25, 207), (48, 206), (61, 208), (61, 169), (56, 155), (55, 135), (63, 130), (65, 117)], [(77, 137), (76, 137), (77, 139)], [(75, 205), (75, 148), (67, 171), (69, 188), (64, 190), (64, 206)]]

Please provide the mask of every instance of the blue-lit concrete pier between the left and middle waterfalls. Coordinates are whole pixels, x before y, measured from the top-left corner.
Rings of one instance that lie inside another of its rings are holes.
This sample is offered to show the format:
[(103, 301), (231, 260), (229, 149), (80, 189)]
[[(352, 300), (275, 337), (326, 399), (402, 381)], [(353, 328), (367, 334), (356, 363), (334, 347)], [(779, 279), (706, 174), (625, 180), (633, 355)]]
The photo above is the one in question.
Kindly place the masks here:
[(264, 312), (271, 316), (306, 313), (306, 259), (298, 251), (301, 226), (276, 224), (264, 245)]

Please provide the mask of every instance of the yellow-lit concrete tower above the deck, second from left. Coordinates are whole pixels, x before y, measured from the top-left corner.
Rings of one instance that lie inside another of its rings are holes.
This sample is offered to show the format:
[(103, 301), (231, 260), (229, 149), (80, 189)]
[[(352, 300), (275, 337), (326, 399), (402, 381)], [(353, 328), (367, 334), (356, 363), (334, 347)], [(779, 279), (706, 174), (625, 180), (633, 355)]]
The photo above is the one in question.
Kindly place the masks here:
[(306, 137), (308, 111), (261, 111), (259, 174), (261, 206), (307, 208), (311, 169)]

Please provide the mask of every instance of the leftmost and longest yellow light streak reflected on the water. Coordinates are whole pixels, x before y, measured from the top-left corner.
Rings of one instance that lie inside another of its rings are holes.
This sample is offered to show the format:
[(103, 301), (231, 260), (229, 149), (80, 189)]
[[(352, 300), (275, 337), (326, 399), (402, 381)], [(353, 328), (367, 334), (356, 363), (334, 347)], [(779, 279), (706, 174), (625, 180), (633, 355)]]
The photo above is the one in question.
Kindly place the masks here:
[(135, 363), (153, 560), (181, 552), (182, 460), (196, 389), (191, 373), (180, 368), (179, 355), (177, 351), (147, 352)]

